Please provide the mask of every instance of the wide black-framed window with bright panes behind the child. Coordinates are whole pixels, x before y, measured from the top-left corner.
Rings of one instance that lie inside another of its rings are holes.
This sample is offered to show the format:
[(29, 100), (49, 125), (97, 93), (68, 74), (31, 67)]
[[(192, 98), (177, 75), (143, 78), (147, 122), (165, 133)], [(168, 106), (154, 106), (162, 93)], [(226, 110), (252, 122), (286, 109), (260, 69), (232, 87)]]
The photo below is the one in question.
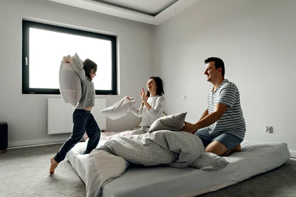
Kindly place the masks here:
[(98, 65), (96, 95), (116, 95), (116, 36), (23, 20), (22, 94), (60, 94), (63, 56)]

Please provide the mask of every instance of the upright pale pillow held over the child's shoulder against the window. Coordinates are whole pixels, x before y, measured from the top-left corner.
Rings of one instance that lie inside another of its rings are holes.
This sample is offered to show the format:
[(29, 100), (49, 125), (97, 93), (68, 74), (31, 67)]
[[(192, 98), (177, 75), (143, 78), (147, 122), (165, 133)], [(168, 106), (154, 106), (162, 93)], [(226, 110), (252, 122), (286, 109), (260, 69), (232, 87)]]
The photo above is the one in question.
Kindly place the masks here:
[[(70, 55), (68, 55), (68, 57), (70, 57)], [(82, 62), (77, 53), (75, 53), (72, 58), (82, 67)], [(63, 61), (61, 61), (59, 84), (60, 93), (65, 102), (76, 106), (82, 95), (81, 81), (70, 63), (63, 63)]]

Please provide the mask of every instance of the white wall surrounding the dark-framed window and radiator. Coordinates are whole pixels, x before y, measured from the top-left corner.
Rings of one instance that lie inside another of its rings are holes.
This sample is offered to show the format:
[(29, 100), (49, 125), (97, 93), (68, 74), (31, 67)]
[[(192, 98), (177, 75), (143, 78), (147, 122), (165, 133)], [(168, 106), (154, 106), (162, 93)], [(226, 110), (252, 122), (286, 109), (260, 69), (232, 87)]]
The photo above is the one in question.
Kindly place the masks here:
[[(120, 42), (117, 51), (120, 96), (98, 98), (106, 98), (107, 106), (127, 95), (140, 99), (141, 87), (146, 85), (152, 74), (151, 25), (47, 0), (1, 0), (0, 121), (8, 123), (8, 146), (64, 141), (70, 136), (47, 135), (46, 99), (60, 96), (21, 95), (23, 17), (117, 35)], [(44, 58), (48, 55), (44, 54)], [(140, 120), (132, 114), (115, 121), (107, 118), (107, 130), (131, 130)]]

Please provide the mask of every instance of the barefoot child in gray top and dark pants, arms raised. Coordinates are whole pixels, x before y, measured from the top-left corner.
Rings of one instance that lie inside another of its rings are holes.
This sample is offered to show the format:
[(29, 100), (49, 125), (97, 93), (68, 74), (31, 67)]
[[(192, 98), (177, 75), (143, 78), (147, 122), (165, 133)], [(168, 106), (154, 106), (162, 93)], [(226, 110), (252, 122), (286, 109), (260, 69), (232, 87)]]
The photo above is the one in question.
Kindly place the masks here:
[(70, 138), (63, 144), (55, 157), (50, 159), (49, 173), (53, 174), (58, 164), (63, 161), (67, 153), (77, 144), (86, 131), (89, 141), (83, 154), (89, 154), (100, 141), (101, 130), (90, 113), (95, 106), (95, 88), (92, 79), (96, 76), (98, 66), (93, 61), (86, 59), (83, 67), (70, 57), (63, 58), (64, 63), (70, 63), (81, 80), (82, 95), (73, 112), (73, 131)]

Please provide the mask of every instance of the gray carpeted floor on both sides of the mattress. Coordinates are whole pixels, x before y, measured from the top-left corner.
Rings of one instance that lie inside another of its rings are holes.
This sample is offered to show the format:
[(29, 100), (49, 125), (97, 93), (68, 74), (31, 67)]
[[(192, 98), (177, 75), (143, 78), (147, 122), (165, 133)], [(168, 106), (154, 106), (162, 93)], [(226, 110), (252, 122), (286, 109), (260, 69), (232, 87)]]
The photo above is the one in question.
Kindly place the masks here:
[[(0, 197), (85, 197), (85, 185), (68, 161), (49, 175), (61, 144), (9, 149), (0, 154)], [(192, 183), (194, 184), (194, 183)], [(242, 183), (199, 197), (296, 197), (296, 160)]]

